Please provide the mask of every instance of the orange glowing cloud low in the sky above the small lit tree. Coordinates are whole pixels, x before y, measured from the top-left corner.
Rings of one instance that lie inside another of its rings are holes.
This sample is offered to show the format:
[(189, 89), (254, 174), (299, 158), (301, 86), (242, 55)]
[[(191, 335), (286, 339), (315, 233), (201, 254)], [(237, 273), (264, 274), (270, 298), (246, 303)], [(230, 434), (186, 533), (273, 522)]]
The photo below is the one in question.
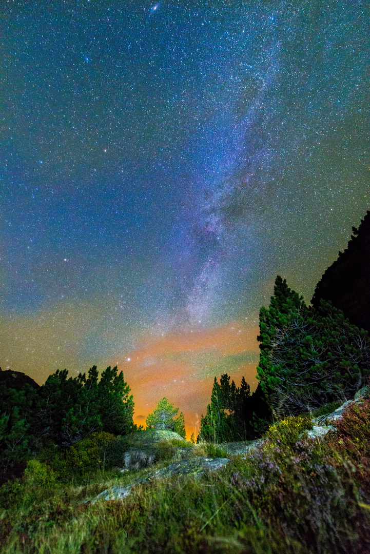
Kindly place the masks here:
[(240, 363), (233, 372), (229, 365), (225, 370), (222, 366), (233, 355), (256, 355), (259, 350), (257, 335), (256, 326), (246, 327), (242, 322), (234, 322), (212, 329), (188, 329), (161, 337), (151, 336), (140, 341), (119, 362), (135, 401), (135, 423), (145, 424), (148, 413), (165, 396), (183, 412), (187, 436), (194, 430), (197, 433), (200, 416), (205, 414), (210, 401), (215, 366), (221, 368), (217, 377), (223, 372), (232, 373), (232, 379), (239, 386), (244, 375), (251, 389), (255, 388), (255, 362)]

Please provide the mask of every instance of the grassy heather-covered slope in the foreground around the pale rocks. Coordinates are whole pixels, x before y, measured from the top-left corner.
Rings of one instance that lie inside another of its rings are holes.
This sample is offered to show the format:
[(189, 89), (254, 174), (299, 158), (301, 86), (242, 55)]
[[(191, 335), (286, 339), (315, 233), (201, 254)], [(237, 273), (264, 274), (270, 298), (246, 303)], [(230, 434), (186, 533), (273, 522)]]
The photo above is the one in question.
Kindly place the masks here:
[[(322, 440), (301, 434), (307, 421), (276, 423), (263, 447), (246, 459), (231, 456), (227, 466), (201, 479), (155, 480), (135, 486), (121, 501), (94, 505), (84, 500), (151, 469), (99, 470), (63, 484), (34, 460), (22, 480), (0, 489), (0, 552), (365, 554), (370, 401), (348, 408), (337, 434)], [(218, 452), (212, 444), (194, 449), (197, 455)]]

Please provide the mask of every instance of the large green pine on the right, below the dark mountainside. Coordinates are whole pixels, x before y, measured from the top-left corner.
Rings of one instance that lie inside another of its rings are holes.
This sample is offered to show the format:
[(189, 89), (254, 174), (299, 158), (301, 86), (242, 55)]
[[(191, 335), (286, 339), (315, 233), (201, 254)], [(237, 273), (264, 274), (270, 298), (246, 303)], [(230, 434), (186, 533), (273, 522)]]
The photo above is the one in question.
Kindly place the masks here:
[(278, 417), (352, 398), (370, 372), (367, 332), (328, 302), (307, 307), (280, 276), (258, 339), (260, 386)]

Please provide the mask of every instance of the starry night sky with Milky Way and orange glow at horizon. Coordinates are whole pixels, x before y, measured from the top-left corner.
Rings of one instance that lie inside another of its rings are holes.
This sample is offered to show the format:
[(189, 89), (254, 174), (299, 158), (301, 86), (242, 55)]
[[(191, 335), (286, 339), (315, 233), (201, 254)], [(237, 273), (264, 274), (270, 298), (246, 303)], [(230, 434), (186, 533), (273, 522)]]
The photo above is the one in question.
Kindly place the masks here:
[(136, 423), (255, 388), (370, 206), (369, 4), (3, 0), (0, 365), (118, 365)]

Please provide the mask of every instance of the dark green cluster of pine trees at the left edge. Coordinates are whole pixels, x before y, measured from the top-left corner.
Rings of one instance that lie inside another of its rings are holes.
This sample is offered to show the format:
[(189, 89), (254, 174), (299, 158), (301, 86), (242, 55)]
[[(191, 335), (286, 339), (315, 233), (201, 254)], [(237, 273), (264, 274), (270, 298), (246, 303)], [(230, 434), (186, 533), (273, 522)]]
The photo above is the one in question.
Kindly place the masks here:
[[(42, 387), (20, 372), (0, 370), (0, 468), (19, 473), (45, 445), (68, 447), (94, 432), (125, 435), (133, 425), (133, 397), (117, 367), (88, 376), (56, 371)], [(18, 469), (17, 469), (18, 468)]]

